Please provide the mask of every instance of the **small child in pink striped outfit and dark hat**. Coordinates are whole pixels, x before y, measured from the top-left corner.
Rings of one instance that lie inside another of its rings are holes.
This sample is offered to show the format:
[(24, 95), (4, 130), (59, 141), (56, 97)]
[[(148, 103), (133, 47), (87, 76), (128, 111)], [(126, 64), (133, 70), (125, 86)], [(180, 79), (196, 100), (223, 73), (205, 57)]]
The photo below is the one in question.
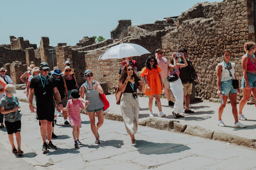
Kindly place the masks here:
[(79, 141), (79, 134), (80, 134), (80, 126), (81, 126), (81, 115), (79, 111), (79, 107), (82, 108), (84, 111), (86, 107), (89, 105), (89, 103), (86, 103), (85, 106), (83, 105), (82, 101), (79, 100), (80, 98), (79, 91), (77, 89), (71, 90), (70, 96), (69, 96), (67, 108), (63, 108), (63, 111), (68, 111), (68, 117), (69, 121), (71, 123), (71, 126), (73, 128), (73, 138), (75, 141), (75, 148), (78, 148), (78, 145), (82, 145), (82, 143)]

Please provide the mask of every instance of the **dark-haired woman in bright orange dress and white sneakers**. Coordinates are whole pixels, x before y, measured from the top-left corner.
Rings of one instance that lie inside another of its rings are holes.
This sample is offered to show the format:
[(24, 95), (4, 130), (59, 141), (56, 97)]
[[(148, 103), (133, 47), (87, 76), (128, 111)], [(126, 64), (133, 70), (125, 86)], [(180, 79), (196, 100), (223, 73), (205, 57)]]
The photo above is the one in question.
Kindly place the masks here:
[(143, 67), (140, 74), (141, 77), (144, 77), (147, 87), (145, 89), (145, 95), (148, 95), (149, 98), (149, 116), (154, 116), (152, 112), (154, 95), (157, 103), (157, 108), (159, 111), (159, 117), (165, 116), (165, 114), (162, 112), (162, 105), (160, 101), (162, 90), (164, 88), (160, 72), (161, 69), (157, 65), (155, 56), (149, 56), (145, 63), (145, 67)]

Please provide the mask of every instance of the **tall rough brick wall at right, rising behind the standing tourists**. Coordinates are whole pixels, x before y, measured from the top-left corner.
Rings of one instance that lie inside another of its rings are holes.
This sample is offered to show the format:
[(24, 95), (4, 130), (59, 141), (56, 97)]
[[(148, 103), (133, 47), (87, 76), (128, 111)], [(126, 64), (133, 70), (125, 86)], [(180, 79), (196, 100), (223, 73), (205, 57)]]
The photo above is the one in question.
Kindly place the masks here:
[(218, 97), (215, 66), (223, 60), (223, 49), (231, 50), (230, 61), (236, 63), (236, 77), (241, 82), (244, 43), (255, 41), (255, 34), (249, 33), (248, 28), (254, 25), (252, 0), (196, 4), (175, 23), (177, 28), (162, 38), (163, 52), (170, 57), (180, 48), (188, 49), (189, 58), (202, 79), (196, 86), (196, 96)]

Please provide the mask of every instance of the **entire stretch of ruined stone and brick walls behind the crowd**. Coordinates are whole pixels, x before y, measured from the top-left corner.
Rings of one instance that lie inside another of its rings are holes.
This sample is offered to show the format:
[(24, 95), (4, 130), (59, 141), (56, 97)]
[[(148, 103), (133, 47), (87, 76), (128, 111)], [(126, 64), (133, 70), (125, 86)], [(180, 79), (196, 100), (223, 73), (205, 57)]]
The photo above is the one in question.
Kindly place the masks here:
[[(11, 36), (11, 45), (0, 45), (0, 66), (6, 68), (6, 63), (11, 64), (14, 61), (19, 61), (21, 65), (29, 66), (34, 63), (38, 66), (41, 61), (49, 62), (51, 58), (54, 60), (55, 56), (56, 65), (62, 70), (65, 61), (70, 61), (76, 70), (79, 85), (84, 82), (84, 70), (91, 69), (94, 78), (107, 82), (108, 91), (113, 91), (111, 87), (118, 84), (117, 70), (123, 59), (98, 61), (98, 58), (110, 47), (121, 44), (122, 39), (125, 43), (145, 47), (153, 55), (155, 49), (162, 48), (167, 58), (173, 52), (187, 48), (189, 58), (202, 79), (194, 87), (195, 96), (203, 99), (217, 98), (215, 66), (222, 61), (223, 49), (231, 50), (231, 61), (236, 63), (236, 77), (239, 81), (242, 79), (241, 56), (245, 53), (243, 44), (255, 41), (253, 2), (224, 0), (219, 3), (197, 3), (176, 18), (169, 17), (151, 24), (132, 25), (131, 20), (119, 20), (117, 27), (110, 32), (111, 39), (96, 44), (91, 38), (84, 37), (76, 46), (59, 43), (57, 47), (49, 47), (49, 38), (42, 37), (40, 48), (36, 48), (24, 43), (26, 40), (22, 37), (17, 39)], [(53, 49), (55, 53), (52, 53), (52, 57), (49, 53)], [(147, 56), (133, 57), (138, 62), (139, 71)], [(52, 69), (53, 64), (50, 67)], [(241, 93), (238, 99), (242, 96)]]

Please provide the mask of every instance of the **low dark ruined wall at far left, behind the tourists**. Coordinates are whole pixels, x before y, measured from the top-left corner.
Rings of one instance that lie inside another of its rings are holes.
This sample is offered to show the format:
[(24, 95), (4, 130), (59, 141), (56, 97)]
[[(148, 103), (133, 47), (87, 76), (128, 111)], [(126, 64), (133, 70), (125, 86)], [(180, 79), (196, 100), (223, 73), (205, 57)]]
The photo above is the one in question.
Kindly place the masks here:
[(0, 47), (0, 67), (3, 67), (5, 63), (12, 63), (14, 61), (26, 64), (25, 50)]

